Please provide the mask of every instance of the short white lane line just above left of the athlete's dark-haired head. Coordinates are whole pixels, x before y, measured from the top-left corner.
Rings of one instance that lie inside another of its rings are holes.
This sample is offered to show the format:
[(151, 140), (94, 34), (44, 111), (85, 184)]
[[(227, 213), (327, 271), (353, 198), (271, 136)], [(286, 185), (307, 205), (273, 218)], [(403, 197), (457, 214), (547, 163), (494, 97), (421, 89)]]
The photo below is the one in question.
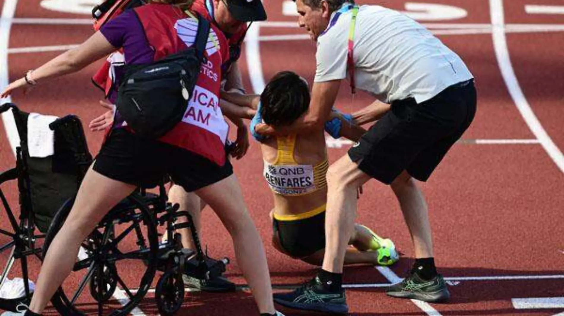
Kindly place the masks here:
[(259, 32), (262, 22), (254, 22), (245, 36), (245, 57), (249, 68), (250, 83), (254, 93), (262, 93), (265, 89), (265, 77), (262, 74), (261, 49)]

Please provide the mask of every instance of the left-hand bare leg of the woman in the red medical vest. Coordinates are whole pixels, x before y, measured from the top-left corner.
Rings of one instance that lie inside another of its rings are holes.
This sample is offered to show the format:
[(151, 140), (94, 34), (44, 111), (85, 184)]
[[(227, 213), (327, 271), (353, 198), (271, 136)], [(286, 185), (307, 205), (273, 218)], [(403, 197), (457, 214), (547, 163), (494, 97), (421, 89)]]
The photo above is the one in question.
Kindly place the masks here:
[(43, 258), (41, 272), (29, 309), (41, 314), (51, 296), (68, 276), (76, 261), (78, 248), (96, 224), (135, 186), (104, 177), (90, 169), (78, 189), (76, 201), (63, 227)]

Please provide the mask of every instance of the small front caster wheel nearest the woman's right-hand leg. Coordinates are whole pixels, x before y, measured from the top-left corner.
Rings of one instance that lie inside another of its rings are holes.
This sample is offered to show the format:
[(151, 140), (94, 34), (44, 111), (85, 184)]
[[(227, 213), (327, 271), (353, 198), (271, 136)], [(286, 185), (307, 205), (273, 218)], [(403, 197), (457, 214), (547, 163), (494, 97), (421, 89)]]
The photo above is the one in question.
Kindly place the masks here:
[(158, 312), (169, 316), (178, 312), (184, 301), (184, 281), (182, 274), (169, 270), (158, 279), (155, 290)]

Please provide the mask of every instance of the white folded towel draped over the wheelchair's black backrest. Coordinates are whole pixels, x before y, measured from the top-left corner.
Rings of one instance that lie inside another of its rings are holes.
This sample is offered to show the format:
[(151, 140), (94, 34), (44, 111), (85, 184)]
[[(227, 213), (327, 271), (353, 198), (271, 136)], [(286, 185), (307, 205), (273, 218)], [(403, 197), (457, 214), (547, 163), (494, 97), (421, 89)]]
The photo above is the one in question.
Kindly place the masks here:
[(55, 136), (49, 124), (56, 116), (30, 113), (28, 117), (28, 150), (30, 157), (47, 157), (55, 153)]

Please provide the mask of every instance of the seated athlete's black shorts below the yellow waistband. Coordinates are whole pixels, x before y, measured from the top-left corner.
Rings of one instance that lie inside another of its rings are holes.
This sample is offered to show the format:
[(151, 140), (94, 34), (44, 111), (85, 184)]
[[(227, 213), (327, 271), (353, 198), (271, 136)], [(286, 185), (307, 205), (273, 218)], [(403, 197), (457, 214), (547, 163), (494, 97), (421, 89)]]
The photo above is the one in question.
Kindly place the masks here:
[(280, 246), (293, 258), (305, 258), (325, 249), (325, 211), (305, 219), (272, 219)]

